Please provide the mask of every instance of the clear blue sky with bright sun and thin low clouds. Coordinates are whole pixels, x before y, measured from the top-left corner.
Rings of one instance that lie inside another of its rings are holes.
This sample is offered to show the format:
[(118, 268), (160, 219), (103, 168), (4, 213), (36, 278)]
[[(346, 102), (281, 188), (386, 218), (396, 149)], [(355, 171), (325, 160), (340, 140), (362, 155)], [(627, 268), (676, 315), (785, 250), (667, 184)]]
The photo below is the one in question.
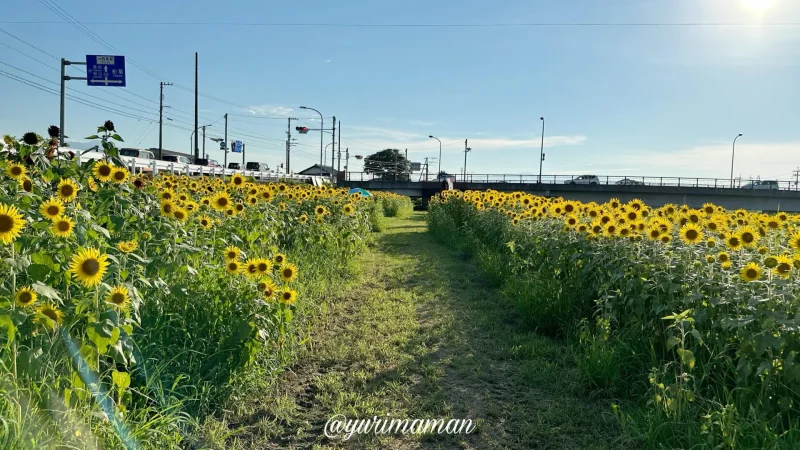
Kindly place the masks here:
[[(0, 33), (0, 71), (57, 90), (53, 57), (80, 61), (114, 52), (70, 24), (21, 23), (63, 21), (44, 3), (5, 6), (0, 30), (10, 35)], [(438, 136), (442, 168), (449, 172), (463, 167), (469, 139), (468, 172), (537, 173), (540, 116), (546, 117), (545, 174), (727, 177), (738, 133), (744, 136), (737, 142), (737, 176), (788, 179), (800, 165), (800, 2), (794, 0), (197, 0), (191, 8), (152, 0), (57, 3), (128, 59), (127, 88), (70, 81), (70, 93), (100, 97), (104, 101), (88, 100), (116, 103), (106, 104), (137, 117), (68, 101), (71, 137), (92, 134), (112, 118), (126, 144), (156, 147), (158, 83), (169, 81), (176, 86), (165, 88), (165, 104), (173, 107), (166, 110), (173, 119), (167, 123), (183, 129), (165, 126), (164, 147), (188, 151), (197, 51), (200, 125), (213, 123), (207, 135), (222, 136), (221, 118), (229, 113), (229, 139), (243, 140), (248, 160), (271, 167), (284, 160), (283, 117), (316, 116), (300, 105), (319, 109), (326, 126), (333, 115), (341, 120), (343, 154), (345, 148), (365, 156), (407, 148), (410, 159), (421, 161), (438, 156), (438, 143), (428, 135)], [(754, 7), (759, 3), (772, 5)], [(254, 22), (737, 25), (231, 24)], [(776, 22), (798, 25), (769, 25)], [(75, 76), (80, 72), (72, 69)], [(0, 92), (0, 132), (43, 133), (58, 122), (57, 96), (5, 76)], [(295, 137), (293, 169), (317, 162), (318, 133)], [(221, 161), (217, 144), (206, 145)], [(350, 161), (351, 170), (360, 169)]]

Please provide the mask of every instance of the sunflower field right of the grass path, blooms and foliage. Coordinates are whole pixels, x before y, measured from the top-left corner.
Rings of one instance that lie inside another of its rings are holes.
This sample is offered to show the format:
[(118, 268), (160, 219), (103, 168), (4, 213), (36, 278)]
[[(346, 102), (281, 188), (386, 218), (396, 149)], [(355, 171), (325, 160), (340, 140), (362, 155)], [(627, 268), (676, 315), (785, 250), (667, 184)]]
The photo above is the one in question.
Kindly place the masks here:
[(800, 215), (446, 191), (428, 220), (570, 343), (632, 446), (800, 448)]

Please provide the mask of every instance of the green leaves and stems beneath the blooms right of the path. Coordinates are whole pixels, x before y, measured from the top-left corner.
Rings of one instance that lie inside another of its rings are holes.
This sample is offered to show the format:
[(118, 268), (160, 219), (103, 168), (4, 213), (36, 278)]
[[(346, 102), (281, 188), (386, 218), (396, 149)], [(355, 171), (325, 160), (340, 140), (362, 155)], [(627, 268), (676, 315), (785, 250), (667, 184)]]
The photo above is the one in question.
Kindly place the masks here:
[(571, 343), (588, 392), (618, 398), (615, 414), (644, 447), (800, 442), (795, 282), (742, 286), (695, 262), (704, 246), (587, 239), (560, 219), (515, 226), (457, 194), (434, 199), (428, 220), (531, 327)]

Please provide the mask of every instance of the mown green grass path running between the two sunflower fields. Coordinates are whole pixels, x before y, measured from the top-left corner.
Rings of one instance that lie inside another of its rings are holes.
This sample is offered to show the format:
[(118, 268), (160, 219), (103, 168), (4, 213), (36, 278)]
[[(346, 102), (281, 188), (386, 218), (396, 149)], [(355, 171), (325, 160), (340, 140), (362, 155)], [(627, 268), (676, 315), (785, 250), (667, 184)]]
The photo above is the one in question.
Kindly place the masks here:
[[(568, 349), (523, 329), (463, 255), (393, 219), (358, 279), (333, 294), (314, 346), (229, 420), (229, 448), (618, 448), (607, 401), (580, 387)], [(328, 439), (333, 414), (470, 418), (470, 435)]]

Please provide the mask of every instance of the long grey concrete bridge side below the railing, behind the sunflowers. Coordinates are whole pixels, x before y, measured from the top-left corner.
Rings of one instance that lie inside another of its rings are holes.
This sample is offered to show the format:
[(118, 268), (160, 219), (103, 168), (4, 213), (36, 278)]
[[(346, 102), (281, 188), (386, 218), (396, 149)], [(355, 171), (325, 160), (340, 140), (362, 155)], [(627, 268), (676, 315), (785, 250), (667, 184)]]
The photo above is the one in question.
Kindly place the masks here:
[[(340, 186), (360, 187), (368, 191), (389, 191), (412, 198), (428, 199), (441, 192), (442, 182), (392, 182), (381, 180), (342, 181)], [(688, 205), (699, 208), (703, 203), (714, 203), (726, 209), (747, 209), (751, 211), (800, 212), (800, 191), (757, 190), (722, 187), (694, 186), (649, 186), (649, 185), (582, 185), (550, 183), (512, 183), (512, 182), (456, 182), (459, 190), (485, 191), (493, 189), (501, 192), (523, 191), (545, 197), (563, 197), (568, 200), (603, 203), (612, 197), (623, 202), (638, 198), (649, 206), (659, 207), (667, 203)]]

